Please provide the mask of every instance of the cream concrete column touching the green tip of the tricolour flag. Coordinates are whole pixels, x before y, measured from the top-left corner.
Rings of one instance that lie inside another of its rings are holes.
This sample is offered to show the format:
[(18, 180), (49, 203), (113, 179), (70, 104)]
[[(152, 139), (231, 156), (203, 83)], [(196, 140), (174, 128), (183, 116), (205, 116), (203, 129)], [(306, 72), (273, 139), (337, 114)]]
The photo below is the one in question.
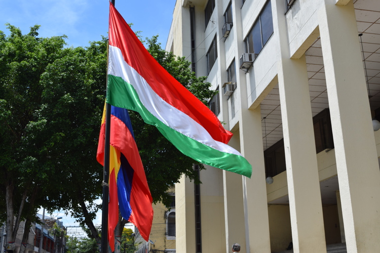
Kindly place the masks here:
[(241, 153), (252, 164), (252, 177), (243, 177), (247, 253), (271, 252), (267, 186), (262, 147), (260, 107), (242, 108), (240, 121)]

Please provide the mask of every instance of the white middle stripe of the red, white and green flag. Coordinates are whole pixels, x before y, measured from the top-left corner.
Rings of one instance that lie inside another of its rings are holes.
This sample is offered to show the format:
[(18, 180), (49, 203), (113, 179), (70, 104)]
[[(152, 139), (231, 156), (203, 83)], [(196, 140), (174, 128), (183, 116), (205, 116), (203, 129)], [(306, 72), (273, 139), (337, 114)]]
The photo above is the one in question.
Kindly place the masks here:
[(119, 48), (109, 46), (108, 59), (108, 74), (119, 76), (130, 83), (136, 90), (144, 107), (169, 128), (221, 152), (241, 156), (237, 150), (229, 145), (215, 141), (197, 121), (158, 96), (150, 88), (146, 80), (124, 61), (123, 54)]

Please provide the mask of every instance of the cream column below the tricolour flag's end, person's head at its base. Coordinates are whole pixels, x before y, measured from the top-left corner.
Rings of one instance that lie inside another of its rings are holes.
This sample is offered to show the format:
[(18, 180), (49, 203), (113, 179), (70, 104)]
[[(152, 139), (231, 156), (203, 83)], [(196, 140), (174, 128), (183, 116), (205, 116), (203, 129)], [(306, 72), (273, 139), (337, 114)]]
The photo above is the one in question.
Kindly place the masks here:
[[(229, 145), (240, 149), (239, 133), (234, 133)], [(231, 252), (232, 245), (239, 243), (240, 252), (245, 253), (245, 224), (243, 203), (242, 176), (236, 173), (223, 171), (224, 191), (224, 220), (225, 220), (225, 244), (227, 253)]]

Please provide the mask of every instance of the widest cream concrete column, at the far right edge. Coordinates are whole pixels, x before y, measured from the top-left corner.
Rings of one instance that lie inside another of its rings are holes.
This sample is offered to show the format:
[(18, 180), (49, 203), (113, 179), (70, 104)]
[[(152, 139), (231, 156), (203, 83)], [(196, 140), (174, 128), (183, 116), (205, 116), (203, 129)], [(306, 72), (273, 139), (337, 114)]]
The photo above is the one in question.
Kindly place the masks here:
[(347, 251), (377, 252), (380, 171), (354, 5), (321, 4), (319, 31)]

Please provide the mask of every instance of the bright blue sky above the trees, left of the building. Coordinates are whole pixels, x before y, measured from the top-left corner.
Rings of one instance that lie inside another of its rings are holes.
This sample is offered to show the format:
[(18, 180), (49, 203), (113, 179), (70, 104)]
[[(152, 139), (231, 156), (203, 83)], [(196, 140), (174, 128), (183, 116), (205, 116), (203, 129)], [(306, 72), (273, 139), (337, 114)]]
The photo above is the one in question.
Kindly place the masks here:
[[(5, 23), (20, 27), (25, 34), (29, 27), (41, 25), (40, 36), (65, 34), (69, 46), (87, 46), (88, 41), (107, 35), (107, 0), (0, 0), (0, 30), (9, 34)], [(134, 31), (143, 38), (159, 34), (165, 48), (172, 21), (175, 0), (116, 0), (115, 7)]]

